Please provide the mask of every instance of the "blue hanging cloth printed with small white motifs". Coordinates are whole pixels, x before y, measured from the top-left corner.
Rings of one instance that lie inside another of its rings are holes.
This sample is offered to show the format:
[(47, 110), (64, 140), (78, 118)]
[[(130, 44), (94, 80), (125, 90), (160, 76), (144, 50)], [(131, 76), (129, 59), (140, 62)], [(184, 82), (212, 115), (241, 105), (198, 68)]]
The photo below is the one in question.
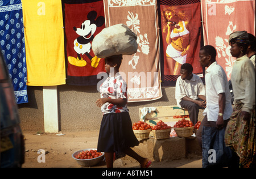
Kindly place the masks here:
[(21, 0), (0, 0), (0, 48), (13, 82), (17, 104), (28, 103)]

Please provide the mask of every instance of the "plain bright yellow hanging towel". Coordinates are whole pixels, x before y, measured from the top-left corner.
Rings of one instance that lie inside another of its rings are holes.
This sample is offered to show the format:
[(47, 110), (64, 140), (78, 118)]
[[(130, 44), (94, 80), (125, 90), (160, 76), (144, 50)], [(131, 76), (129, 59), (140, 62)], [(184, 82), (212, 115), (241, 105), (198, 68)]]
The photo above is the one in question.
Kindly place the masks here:
[(65, 84), (61, 0), (22, 0), (28, 86)]

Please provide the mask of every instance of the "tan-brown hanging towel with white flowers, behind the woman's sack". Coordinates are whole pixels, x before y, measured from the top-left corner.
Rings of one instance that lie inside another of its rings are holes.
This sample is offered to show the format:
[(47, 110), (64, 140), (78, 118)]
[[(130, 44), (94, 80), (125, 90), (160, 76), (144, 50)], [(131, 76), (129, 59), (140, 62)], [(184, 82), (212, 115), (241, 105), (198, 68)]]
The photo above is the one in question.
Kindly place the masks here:
[(123, 56), (119, 71), (127, 83), (128, 102), (162, 97), (157, 1), (104, 0), (106, 26), (125, 24), (137, 34), (138, 50)]

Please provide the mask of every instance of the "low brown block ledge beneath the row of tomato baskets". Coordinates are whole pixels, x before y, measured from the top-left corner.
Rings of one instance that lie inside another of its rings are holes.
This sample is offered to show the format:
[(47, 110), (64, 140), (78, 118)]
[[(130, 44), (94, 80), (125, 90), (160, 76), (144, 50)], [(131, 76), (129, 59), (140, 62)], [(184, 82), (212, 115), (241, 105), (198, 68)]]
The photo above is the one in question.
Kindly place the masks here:
[[(154, 161), (177, 160), (190, 157), (191, 155), (201, 156), (202, 154), (195, 137), (171, 137), (160, 140), (150, 138), (142, 140), (139, 146), (135, 146), (132, 149), (137, 154)], [(125, 156), (125, 159), (130, 160), (131, 157)]]

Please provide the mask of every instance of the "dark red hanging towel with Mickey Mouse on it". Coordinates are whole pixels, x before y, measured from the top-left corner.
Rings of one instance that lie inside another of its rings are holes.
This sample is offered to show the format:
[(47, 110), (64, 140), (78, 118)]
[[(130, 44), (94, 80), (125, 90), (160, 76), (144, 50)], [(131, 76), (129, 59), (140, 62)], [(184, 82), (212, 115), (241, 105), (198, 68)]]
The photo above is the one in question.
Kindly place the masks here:
[(97, 74), (105, 71), (104, 59), (92, 51), (93, 38), (105, 28), (102, 0), (64, 0), (64, 29), (67, 84), (96, 85)]

